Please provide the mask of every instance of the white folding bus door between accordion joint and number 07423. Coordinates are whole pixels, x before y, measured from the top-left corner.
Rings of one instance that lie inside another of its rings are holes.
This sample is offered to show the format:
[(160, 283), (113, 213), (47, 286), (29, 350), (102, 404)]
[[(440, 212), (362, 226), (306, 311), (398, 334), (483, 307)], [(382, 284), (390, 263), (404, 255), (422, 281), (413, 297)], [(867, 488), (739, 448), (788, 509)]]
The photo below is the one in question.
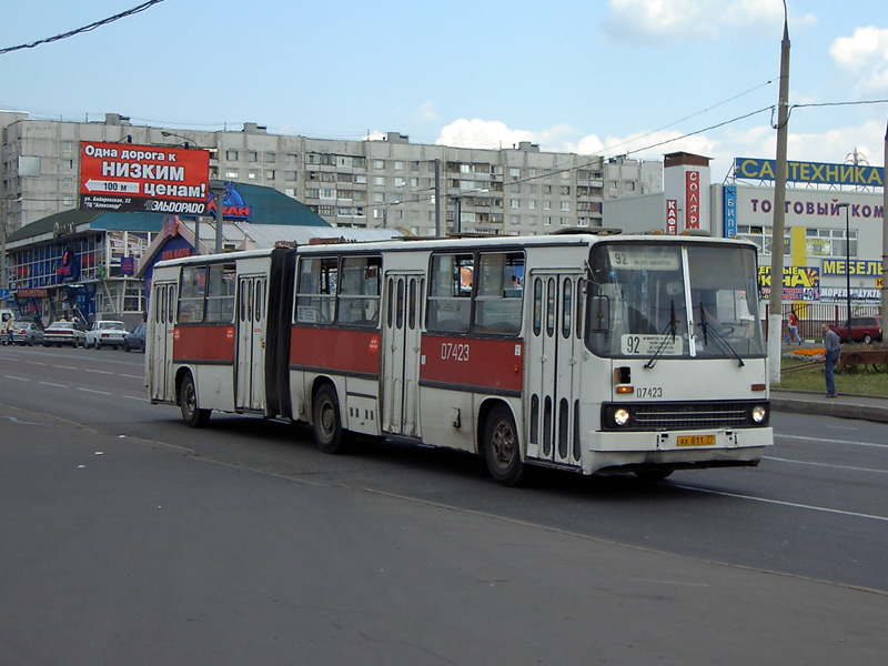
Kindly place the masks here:
[(405, 437), (422, 435), (418, 382), (423, 285), (421, 274), (387, 273), (385, 278), (382, 431)]

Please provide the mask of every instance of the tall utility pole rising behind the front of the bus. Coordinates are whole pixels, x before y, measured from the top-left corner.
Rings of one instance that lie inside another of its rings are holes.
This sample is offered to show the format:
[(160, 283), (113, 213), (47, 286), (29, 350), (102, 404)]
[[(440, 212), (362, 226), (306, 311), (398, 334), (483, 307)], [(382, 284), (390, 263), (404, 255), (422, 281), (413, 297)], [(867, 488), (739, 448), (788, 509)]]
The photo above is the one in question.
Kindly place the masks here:
[(780, 42), (780, 91), (777, 105), (777, 164), (774, 174), (774, 228), (770, 243), (770, 299), (768, 361), (770, 384), (780, 384), (784, 321), (784, 229), (786, 226), (786, 147), (789, 122), (789, 23), (784, 0), (784, 39)]

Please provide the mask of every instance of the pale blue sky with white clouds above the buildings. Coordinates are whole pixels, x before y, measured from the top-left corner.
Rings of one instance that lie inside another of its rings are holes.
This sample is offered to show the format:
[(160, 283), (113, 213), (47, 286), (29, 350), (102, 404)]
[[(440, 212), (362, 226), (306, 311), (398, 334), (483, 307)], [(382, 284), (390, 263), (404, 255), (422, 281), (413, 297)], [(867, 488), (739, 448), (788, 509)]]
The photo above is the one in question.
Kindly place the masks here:
[[(143, 1), (7, 3), (0, 49)], [(787, 4), (789, 101), (799, 105), (789, 159), (845, 162), (857, 150), (882, 165), (885, 0)], [(734, 157), (775, 155), (783, 24), (781, 0), (164, 0), (0, 54), (0, 109), (656, 160), (686, 150), (713, 158), (718, 182)]]

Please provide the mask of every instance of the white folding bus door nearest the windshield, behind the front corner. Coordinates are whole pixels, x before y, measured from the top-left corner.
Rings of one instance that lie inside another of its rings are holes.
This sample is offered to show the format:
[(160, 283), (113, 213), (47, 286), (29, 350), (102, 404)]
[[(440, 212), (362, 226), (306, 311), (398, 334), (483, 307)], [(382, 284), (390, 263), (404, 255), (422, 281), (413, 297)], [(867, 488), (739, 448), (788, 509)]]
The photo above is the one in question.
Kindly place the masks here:
[(532, 273), (527, 327), (528, 456), (578, 466), (582, 276)]

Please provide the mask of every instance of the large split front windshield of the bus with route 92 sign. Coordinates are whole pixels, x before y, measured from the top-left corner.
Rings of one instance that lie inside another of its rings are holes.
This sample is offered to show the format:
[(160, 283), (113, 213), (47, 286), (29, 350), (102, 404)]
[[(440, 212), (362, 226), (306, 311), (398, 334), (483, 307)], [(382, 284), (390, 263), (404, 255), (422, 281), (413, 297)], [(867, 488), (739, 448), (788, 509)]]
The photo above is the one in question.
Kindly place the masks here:
[(595, 354), (765, 355), (753, 249), (603, 243), (589, 265), (586, 344)]

